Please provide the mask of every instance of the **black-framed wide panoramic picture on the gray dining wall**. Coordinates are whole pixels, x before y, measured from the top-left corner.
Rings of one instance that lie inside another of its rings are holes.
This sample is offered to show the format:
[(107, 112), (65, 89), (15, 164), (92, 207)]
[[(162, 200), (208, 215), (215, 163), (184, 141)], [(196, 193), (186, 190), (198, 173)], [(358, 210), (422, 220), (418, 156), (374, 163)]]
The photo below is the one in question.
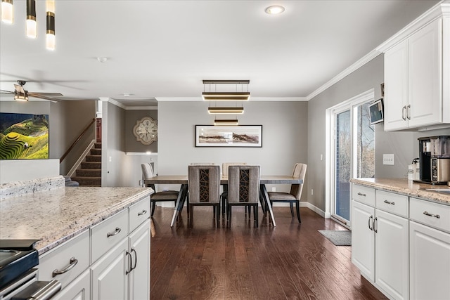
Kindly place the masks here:
[(195, 125), (195, 147), (262, 147), (262, 125)]

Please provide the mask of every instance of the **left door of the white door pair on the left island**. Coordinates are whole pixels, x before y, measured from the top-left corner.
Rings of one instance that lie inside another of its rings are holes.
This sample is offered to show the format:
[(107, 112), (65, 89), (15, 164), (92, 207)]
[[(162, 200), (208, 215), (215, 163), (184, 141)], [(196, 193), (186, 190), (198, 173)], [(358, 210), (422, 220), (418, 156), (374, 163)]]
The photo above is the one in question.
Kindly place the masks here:
[(110, 252), (91, 266), (92, 300), (124, 300), (128, 296), (128, 239), (124, 238)]

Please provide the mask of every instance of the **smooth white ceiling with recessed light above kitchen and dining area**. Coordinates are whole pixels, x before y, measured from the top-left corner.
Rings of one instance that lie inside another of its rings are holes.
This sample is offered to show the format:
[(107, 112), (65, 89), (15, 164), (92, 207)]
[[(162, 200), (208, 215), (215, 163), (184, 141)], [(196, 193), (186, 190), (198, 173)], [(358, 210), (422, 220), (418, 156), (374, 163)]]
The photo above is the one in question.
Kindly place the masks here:
[[(45, 1), (29, 39), (25, 0), (14, 0), (13, 25), (0, 27), (0, 89), (25, 79), (63, 99), (145, 106), (200, 100), (203, 79), (250, 79), (250, 100), (307, 100), (438, 2), (56, 0), (48, 51)], [(264, 13), (273, 4), (285, 12)]]

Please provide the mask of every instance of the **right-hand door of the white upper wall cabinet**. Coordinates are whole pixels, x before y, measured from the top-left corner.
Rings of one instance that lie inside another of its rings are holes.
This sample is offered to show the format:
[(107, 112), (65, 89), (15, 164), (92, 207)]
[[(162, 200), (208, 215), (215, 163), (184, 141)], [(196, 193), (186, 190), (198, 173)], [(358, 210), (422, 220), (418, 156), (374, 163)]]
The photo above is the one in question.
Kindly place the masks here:
[(442, 122), (442, 20), (409, 39), (409, 126)]

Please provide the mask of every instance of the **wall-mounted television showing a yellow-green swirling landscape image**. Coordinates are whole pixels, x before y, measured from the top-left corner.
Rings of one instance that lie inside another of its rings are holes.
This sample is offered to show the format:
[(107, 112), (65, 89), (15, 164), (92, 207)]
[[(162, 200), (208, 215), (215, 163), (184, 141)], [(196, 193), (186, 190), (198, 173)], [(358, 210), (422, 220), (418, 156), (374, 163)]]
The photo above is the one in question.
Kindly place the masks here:
[(0, 159), (48, 159), (49, 115), (0, 112)]

